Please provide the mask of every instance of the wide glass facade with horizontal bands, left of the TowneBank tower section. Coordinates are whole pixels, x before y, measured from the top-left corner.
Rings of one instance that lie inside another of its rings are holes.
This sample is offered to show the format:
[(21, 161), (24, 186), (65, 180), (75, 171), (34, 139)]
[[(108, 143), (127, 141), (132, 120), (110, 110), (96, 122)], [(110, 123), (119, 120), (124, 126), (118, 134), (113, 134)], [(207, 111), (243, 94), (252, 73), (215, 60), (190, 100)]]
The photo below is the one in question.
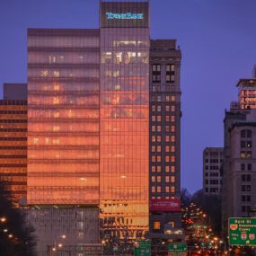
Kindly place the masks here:
[(99, 204), (99, 30), (28, 31), (28, 204)]

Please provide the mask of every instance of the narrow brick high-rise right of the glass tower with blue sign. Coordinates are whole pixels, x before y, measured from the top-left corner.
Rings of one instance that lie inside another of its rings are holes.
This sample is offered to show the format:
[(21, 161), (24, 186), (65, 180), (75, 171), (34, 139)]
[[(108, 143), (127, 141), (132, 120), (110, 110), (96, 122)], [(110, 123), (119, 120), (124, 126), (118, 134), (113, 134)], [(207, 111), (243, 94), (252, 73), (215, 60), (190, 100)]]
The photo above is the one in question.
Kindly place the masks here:
[(150, 43), (150, 234), (181, 237), (181, 50)]

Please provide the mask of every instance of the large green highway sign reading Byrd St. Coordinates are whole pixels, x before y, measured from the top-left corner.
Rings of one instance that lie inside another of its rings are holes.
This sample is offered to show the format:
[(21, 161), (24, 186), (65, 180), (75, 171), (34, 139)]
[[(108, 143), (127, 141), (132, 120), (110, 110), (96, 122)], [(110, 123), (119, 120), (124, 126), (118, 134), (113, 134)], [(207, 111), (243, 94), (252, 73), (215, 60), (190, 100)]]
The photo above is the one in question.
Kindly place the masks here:
[(228, 229), (230, 245), (256, 245), (255, 217), (230, 217)]

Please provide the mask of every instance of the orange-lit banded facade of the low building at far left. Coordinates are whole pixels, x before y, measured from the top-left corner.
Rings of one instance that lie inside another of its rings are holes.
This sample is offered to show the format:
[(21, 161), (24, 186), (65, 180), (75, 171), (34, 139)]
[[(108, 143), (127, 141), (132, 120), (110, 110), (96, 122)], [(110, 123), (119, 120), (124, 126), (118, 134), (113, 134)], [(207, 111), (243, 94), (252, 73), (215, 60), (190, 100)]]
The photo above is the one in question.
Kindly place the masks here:
[(0, 181), (15, 207), (27, 193), (27, 101), (0, 101)]

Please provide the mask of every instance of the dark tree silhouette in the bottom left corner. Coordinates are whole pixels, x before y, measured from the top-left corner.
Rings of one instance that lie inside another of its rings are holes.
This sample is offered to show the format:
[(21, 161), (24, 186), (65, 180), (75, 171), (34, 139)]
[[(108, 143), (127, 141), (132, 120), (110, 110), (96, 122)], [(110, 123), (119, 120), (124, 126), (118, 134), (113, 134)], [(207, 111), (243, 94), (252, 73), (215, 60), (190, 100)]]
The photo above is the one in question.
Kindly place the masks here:
[(25, 225), (20, 209), (13, 208), (11, 194), (0, 181), (0, 252), (4, 256), (35, 256), (33, 230)]

